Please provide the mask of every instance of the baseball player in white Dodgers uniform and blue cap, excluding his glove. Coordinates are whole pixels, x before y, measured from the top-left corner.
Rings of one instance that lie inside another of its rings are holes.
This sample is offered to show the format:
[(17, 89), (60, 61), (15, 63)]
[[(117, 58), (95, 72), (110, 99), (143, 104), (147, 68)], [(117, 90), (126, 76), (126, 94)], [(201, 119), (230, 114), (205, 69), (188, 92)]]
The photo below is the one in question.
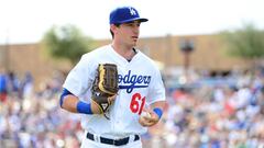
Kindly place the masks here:
[[(140, 25), (147, 21), (132, 7), (111, 11), (112, 43), (82, 55), (68, 73), (61, 106), (81, 114), (85, 129), (81, 148), (142, 148), (140, 135), (161, 119), (165, 89), (160, 70), (152, 59), (135, 48)], [(106, 115), (91, 105), (99, 64), (114, 64), (118, 69), (119, 89), (109, 98), (112, 103)]]

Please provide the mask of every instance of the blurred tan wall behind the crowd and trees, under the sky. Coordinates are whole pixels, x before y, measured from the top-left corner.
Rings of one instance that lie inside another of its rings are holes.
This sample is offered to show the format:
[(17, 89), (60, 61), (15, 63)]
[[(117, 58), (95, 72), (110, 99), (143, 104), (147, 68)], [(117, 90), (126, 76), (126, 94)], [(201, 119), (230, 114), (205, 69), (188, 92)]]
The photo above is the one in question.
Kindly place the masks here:
[[(167, 72), (173, 72), (184, 67), (184, 54), (180, 50), (182, 39), (193, 39), (194, 50), (189, 57), (189, 68), (193, 70), (207, 70), (210, 73), (227, 73), (232, 69), (246, 69), (249, 65), (241, 59), (228, 56), (218, 35), (193, 36), (162, 36), (142, 38), (139, 48), (157, 61), (158, 66)], [(106, 45), (110, 41), (96, 41), (96, 45)], [(35, 84), (40, 84), (55, 70), (68, 72), (69, 62), (55, 61), (43, 52), (42, 45), (15, 44), (0, 45), (0, 66), (9, 71), (23, 73), (31, 71)]]

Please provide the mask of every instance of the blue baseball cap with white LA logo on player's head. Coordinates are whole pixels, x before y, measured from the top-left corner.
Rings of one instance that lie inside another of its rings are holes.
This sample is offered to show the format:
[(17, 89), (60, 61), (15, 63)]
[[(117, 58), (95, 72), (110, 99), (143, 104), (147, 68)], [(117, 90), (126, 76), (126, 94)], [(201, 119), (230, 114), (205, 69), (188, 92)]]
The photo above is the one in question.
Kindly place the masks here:
[(110, 24), (122, 24), (139, 20), (140, 22), (148, 21), (145, 18), (140, 18), (139, 12), (132, 7), (117, 8), (110, 13)]

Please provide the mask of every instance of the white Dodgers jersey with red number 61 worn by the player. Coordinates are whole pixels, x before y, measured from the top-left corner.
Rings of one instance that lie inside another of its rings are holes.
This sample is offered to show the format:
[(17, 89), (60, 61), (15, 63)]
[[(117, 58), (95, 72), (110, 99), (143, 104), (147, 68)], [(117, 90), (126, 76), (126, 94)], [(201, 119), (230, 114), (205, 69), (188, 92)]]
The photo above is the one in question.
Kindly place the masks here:
[(116, 64), (119, 75), (119, 92), (110, 106), (107, 119), (103, 115), (82, 114), (81, 126), (94, 134), (119, 138), (143, 134), (146, 127), (139, 123), (146, 104), (165, 100), (165, 89), (160, 70), (153, 60), (140, 50), (128, 61), (111, 45), (85, 54), (68, 73), (64, 88), (81, 101), (90, 102), (91, 87), (98, 64)]

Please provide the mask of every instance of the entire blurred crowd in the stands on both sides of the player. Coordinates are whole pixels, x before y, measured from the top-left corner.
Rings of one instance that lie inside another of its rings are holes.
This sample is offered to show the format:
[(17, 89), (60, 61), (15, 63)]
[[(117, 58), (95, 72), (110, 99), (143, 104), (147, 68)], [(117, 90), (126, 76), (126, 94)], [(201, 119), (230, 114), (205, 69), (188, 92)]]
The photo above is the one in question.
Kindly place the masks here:
[[(63, 80), (55, 73), (34, 91), (29, 72), (19, 79), (0, 71), (0, 147), (79, 147), (79, 116), (58, 105)], [(167, 106), (160, 123), (142, 136), (144, 148), (264, 147), (263, 70), (196, 73), (177, 87), (164, 80)]]

